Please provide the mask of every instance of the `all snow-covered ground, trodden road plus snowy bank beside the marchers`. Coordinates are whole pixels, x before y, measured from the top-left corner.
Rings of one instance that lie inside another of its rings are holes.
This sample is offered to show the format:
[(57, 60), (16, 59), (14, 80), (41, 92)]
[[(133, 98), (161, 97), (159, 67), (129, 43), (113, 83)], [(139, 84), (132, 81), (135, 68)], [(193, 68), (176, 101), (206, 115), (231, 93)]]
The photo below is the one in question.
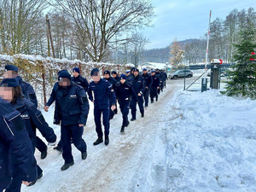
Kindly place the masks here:
[[(183, 91), (182, 79), (169, 80), (159, 102), (149, 103), (144, 118), (137, 111), (124, 135), (121, 113), (114, 116), (108, 146), (92, 145), (92, 112), (90, 102), (87, 159), (73, 146), (75, 164), (61, 172), (60, 153), (49, 147), (40, 160), (36, 151), (44, 177), (21, 191), (256, 191), (256, 102), (250, 99)], [(60, 137), (53, 109), (44, 116)]]

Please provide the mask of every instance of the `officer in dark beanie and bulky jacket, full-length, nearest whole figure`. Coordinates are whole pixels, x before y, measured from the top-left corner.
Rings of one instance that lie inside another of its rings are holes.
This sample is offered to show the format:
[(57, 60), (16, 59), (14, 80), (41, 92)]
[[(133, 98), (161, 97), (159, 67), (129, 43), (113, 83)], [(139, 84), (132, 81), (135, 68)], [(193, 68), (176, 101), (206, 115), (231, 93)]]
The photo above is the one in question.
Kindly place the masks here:
[(55, 97), (54, 124), (61, 123), (62, 157), (65, 160), (61, 171), (73, 166), (71, 137), (73, 144), (81, 152), (82, 160), (87, 157), (87, 147), (82, 134), (89, 113), (89, 102), (83, 87), (73, 84), (71, 75), (63, 71), (59, 75), (59, 87)]

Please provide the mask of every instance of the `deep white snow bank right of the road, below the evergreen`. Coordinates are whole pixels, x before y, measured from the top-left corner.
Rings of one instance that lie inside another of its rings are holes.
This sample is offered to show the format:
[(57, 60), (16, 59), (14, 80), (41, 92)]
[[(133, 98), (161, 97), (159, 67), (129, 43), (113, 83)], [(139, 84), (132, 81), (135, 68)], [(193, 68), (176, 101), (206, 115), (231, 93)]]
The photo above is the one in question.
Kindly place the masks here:
[(256, 102), (179, 91), (168, 135), (174, 191), (256, 191)]

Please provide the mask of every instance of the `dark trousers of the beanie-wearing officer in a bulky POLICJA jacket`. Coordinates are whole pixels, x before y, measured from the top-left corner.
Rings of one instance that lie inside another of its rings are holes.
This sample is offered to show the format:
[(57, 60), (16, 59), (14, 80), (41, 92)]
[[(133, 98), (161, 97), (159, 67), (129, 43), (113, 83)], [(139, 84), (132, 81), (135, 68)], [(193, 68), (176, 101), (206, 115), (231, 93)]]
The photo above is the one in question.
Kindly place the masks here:
[(71, 148), (71, 137), (73, 138), (73, 144), (76, 148), (84, 153), (87, 149), (86, 143), (82, 138), (84, 127), (76, 125), (61, 125), (61, 144), (62, 144), (62, 157), (65, 163), (73, 162), (72, 148)]

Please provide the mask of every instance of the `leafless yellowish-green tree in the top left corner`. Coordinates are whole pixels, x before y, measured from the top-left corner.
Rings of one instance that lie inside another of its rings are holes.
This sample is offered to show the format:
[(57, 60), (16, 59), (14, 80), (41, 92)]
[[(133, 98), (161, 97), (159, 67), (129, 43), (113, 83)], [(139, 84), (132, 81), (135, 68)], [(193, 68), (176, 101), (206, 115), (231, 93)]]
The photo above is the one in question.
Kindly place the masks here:
[(44, 0), (0, 1), (1, 45), (3, 52), (32, 52), (34, 28), (46, 8)]

